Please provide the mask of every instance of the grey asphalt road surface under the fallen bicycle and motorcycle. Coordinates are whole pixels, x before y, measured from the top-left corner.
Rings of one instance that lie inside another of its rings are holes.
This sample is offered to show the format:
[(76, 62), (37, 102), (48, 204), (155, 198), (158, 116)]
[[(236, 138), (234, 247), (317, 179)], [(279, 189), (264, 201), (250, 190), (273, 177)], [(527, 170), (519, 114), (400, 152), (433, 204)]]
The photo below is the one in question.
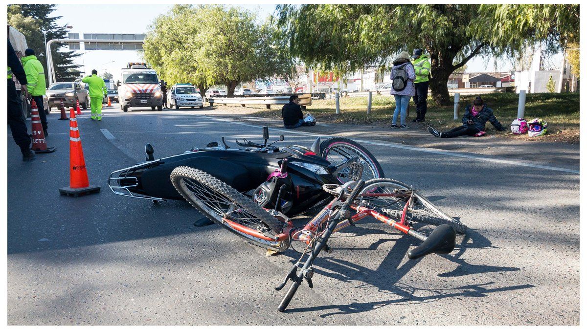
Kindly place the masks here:
[[(69, 121), (58, 113), (48, 116), (55, 153), (23, 163), (9, 137), (9, 325), (579, 324), (576, 173), (365, 143), (387, 177), (421, 188), (471, 229), (450, 255), (413, 261), (414, 238), (375, 220), (348, 227), (315, 262), (314, 288), (304, 284), (282, 314), (284, 292), (273, 287), (295, 252), (266, 257), (217, 225), (194, 227), (201, 215), (185, 202), (155, 205), (106, 184), (144, 160), (145, 143), (164, 157), (221, 136), (258, 139), (260, 127), (198, 110), (122, 113), (115, 104), (102, 122), (84, 113), (99, 194), (59, 195), (69, 185)], [(281, 145), (309, 146), (302, 131)]]

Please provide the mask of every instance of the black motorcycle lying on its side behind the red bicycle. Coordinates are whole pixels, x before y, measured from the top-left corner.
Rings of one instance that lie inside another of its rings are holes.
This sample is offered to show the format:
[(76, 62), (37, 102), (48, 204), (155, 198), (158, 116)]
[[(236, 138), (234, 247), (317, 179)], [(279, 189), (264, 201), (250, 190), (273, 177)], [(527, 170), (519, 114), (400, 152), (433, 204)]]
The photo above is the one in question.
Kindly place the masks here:
[(309, 148), (277, 147), (273, 144), (284, 136), (268, 144), (268, 127), (263, 127), (263, 138), (263, 144), (244, 139), (235, 140), (237, 147), (231, 147), (222, 137), (221, 143), (162, 159), (155, 159), (153, 147), (147, 144), (146, 161), (114, 171), (108, 186), (115, 194), (153, 203), (184, 200), (171, 184), (170, 174), (176, 167), (189, 166), (220, 179), (262, 207), (292, 216), (328, 203), (331, 196), (323, 184), (384, 177), (373, 154), (350, 139), (331, 137), (321, 143), (318, 137)]

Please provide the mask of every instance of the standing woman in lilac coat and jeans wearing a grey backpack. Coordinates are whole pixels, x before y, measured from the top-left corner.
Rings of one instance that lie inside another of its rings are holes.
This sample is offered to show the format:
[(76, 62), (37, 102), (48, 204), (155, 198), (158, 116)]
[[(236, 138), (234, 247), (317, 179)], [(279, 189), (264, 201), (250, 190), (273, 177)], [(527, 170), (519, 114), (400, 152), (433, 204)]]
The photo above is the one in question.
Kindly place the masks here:
[[(407, 52), (401, 52), (393, 60), (392, 68), (392, 92), (391, 94), (396, 98), (396, 110), (393, 112), (392, 127), (394, 129), (407, 129), (410, 126), (406, 125), (406, 111), (412, 96), (416, 95), (414, 89), (414, 80), (416, 79), (416, 71), (410, 62), (410, 55)], [(397, 125), (397, 115), (400, 114), (400, 125)]]

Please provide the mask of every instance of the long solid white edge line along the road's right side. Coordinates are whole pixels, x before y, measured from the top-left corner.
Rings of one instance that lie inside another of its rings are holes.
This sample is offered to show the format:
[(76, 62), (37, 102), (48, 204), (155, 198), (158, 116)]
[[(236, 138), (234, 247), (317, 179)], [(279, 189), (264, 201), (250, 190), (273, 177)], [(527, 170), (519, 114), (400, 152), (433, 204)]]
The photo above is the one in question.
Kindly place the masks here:
[[(184, 115), (184, 113), (181, 113), (181, 114)], [(262, 126), (259, 126), (259, 125), (252, 125), (252, 124), (245, 124), (245, 123), (241, 123), (241, 122), (234, 122), (233, 120), (224, 119), (224, 118), (213, 118), (213, 117), (208, 117), (208, 116), (204, 116), (204, 115), (196, 115), (195, 113), (189, 113), (189, 115), (198, 116), (198, 117), (205, 117), (205, 118), (209, 118), (209, 119), (212, 119), (212, 120), (218, 120), (218, 121), (222, 121), (222, 122), (227, 122), (227, 123), (232, 123), (232, 124), (238, 124), (238, 125), (248, 126), (248, 127), (255, 127), (255, 128), (262, 127)], [(274, 130), (276, 132), (285, 132), (285, 133), (292, 133), (292, 134), (312, 136), (312, 137), (318, 137), (318, 136), (329, 136), (329, 137), (331, 137), (331, 136), (335, 136), (335, 135), (332, 135), (332, 134), (314, 134), (314, 133), (306, 133), (306, 132), (294, 132), (292, 130), (278, 129), (278, 128), (275, 128), (275, 127), (269, 127), (269, 129)], [(517, 166), (525, 166), (525, 167), (534, 167), (535, 169), (553, 170), (553, 171), (559, 171), (559, 172), (567, 172), (567, 173), (579, 174), (579, 171), (578, 170), (565, 169), (563, 167), (545, 166), (545, 165), (524, 163), (523, 161), (514, 161), (514, 160), (494, 159), (494, 158), (488, 158), (488, 157), (473, 156), (471, 154), (455, 153), (455, 152), (444, 151), (444, 150), (433, 149), (433, 148), (426, 148), (426, 147), (409, 147), (409, 146), (404, 146), (403, 144), (393, 143), (393, 142), (373, 142), (373, 141), (359, 140), (359, 139), (353, 139), (353, 140), (355, 140), (356, 142), (360, 142), (360, 143), (374, 144), (376, 146), (386, 146), (386, 147), (392, 147), (392, 148), (397, 148), (397, 149), (407, 149), (407, 150), (413, 150), (413, 151), (422, 151), (422, 152), (425, 152), (425, 153), (443, 154), (444, 156), (453, 156), (453, 157), (462, 157), (462, 158), (478, 159), (478, 160), (484, 160), (484, 161), (493, 161), (494, 163), (510, 164), (510, 165), (517, 165)]]

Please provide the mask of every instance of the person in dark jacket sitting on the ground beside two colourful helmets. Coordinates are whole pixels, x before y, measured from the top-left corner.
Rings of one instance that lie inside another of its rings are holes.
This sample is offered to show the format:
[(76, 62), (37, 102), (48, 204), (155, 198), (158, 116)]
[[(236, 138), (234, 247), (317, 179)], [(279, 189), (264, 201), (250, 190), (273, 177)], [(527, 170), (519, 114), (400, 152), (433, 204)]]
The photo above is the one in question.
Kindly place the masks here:
[(493, 114), (493, 110), (488, 107), (481, 96), (477, 96), (473, 101), (473, 106), (465, 108), (465, 115), (463, 116), (463, 125), (455, 127), (448, 132), (438, 132), (432, 126), (428, 126), (428, 132), (436, 137), (457, 137), (457, 136), (483, 136), (485, 134), (485, 123), (487, 120), (497, 130), (505, 130), (499, 120)]

